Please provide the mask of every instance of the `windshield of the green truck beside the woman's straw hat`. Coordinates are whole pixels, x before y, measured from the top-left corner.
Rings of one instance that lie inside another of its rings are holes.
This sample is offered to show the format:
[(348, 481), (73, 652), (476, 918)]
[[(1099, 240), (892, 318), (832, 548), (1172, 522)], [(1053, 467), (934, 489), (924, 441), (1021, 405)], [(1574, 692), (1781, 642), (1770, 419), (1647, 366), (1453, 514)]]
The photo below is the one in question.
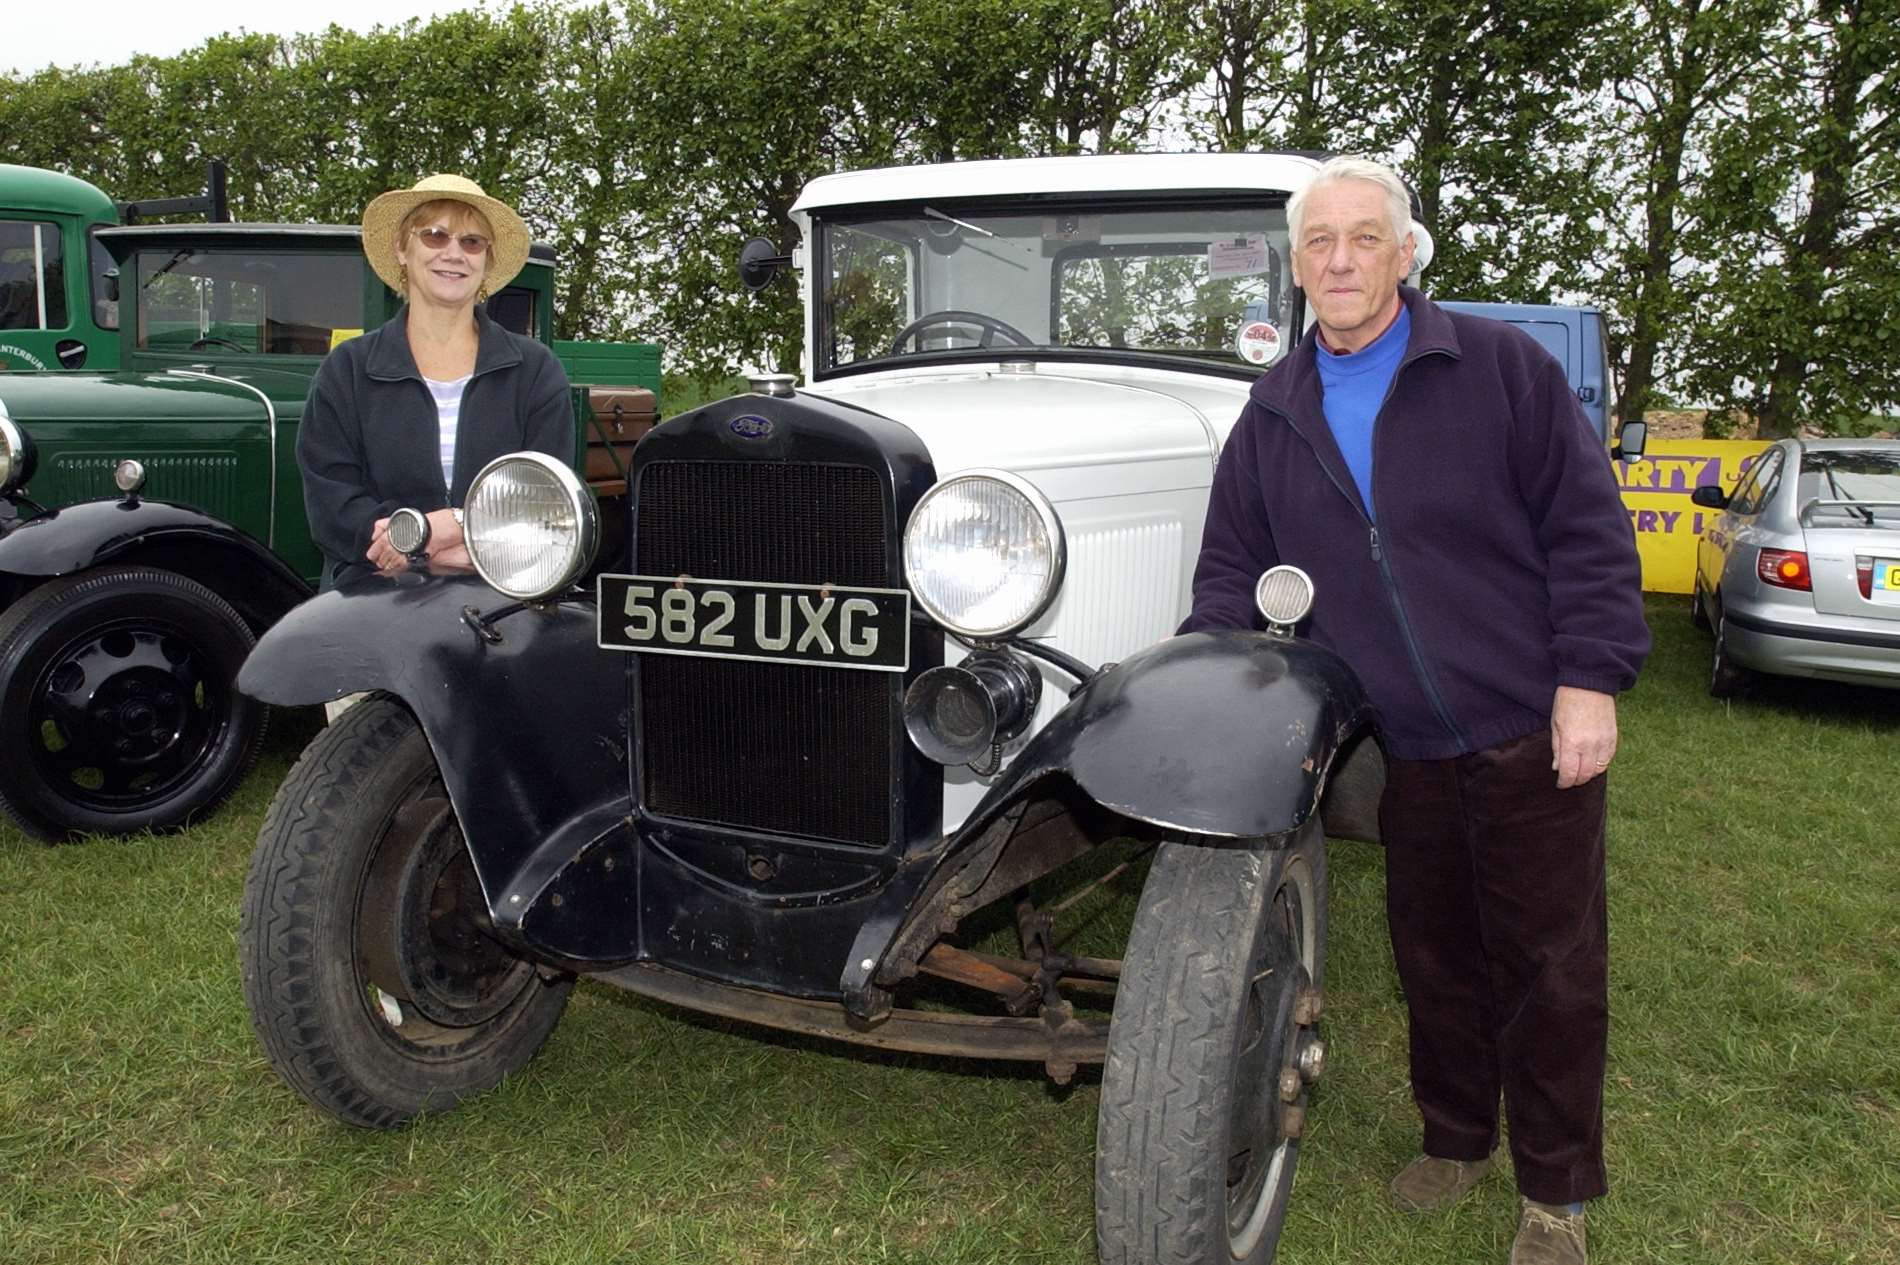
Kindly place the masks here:
[(363, 332), (361, 251), (139, 251), (135, 275), (144, 351), (325, 355)]

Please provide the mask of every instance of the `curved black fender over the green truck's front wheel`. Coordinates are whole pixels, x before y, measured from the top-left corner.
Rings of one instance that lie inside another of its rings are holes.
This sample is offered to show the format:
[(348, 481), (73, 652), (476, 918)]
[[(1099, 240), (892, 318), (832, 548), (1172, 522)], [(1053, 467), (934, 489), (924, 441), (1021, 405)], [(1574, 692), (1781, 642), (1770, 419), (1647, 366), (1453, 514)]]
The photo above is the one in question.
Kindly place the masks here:
[(10, 600), (38, 581), (112, 564), (190, 576), (238, 608), (253, 631), (270, 627), (312, 593), (262, 541), (171, 501), (84, 501), (0, 536), (0, 577)]

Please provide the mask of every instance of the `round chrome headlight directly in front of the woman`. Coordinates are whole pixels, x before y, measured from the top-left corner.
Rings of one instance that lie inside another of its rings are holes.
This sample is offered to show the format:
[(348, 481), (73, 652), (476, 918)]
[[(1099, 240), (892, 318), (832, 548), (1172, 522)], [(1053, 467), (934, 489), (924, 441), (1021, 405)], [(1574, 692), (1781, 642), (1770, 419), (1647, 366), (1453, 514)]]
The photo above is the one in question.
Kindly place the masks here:
[(538, 602), (574, 583), (600, 543), (587, 484), (542, 452), (483, 465), (462, 507), (462, 539), (496, 591)]

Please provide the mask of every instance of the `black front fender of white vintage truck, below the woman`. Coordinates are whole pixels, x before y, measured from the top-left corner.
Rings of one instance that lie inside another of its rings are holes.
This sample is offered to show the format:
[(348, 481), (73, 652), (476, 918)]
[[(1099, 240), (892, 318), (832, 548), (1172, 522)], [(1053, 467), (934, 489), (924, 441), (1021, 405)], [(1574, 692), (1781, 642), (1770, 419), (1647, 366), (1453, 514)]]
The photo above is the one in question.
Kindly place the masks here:
[[(505, 604), (471, 576), (365, 576), (279, 619), (238, 688), (281, 705), (359, 689), (399, 697), (435, 752), (496, 929), (526, 944), (521, 919), (536, 895), (633, 811), (627, 661), (595, 644), (593, 602), (517, 610), (492, 625), (498, 642), (464, 617)], [(627, 898), (618, 885), (595, 895)], [(589, 935), (600, 929), (581, 921)], [(545, 940), (534, 948), (574, 955)]]

